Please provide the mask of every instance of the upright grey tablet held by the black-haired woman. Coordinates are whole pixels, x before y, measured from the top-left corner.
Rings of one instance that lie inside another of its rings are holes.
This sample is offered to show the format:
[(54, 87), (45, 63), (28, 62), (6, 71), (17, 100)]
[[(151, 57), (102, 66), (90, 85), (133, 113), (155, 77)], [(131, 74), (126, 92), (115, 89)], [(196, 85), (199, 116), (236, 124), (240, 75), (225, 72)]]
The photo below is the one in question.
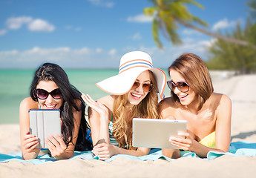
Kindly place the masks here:
[(47, 148), (45, 138), (56, 133), (62, 135), (60, 111), (30, 109), (30, 133), (39, 138), (39, 145), (36, 148)]

